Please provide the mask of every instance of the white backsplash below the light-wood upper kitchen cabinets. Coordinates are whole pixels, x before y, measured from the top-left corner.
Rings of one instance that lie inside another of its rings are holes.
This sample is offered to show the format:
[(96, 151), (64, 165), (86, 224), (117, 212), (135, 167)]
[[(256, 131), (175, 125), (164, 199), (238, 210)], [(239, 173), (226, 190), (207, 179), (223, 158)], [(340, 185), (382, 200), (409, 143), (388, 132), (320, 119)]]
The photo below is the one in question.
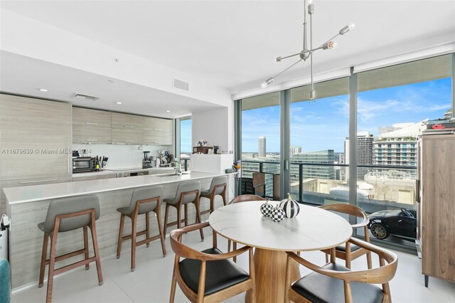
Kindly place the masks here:
[(167, 145), (143, 145), (142, 150), (139, 150), (139, 145), (73, 143), (73, 150), (76, 149), (79, 151), (81, 149), (90, 150), (90, 154), (83, 156), (108, 156), (109, 161), (107, 161), (105, 169), (142, 167), (142, 159), (144, 159), (142, 151), (150, 151), (149, 156), (158, 156), (159, 150), (166, 149), (173, 154), (173, 147)]

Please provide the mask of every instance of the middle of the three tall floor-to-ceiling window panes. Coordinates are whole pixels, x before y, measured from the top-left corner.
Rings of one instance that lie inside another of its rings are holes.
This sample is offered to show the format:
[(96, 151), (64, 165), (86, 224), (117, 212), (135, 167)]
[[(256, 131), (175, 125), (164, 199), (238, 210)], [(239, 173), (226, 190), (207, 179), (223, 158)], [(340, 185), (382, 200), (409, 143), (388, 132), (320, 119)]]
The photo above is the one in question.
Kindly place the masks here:
[(348, 201), (345, 143), (349, 137), (349, 79), (291, 89), (291, 194), (306, 203)]

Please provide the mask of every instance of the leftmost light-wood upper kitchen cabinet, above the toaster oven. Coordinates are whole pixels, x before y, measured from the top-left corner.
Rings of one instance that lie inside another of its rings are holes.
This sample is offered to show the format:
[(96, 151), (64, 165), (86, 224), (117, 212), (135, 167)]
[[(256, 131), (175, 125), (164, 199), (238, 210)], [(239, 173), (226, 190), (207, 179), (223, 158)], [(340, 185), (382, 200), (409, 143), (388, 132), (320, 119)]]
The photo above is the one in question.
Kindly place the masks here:
[(74, 143), (111, 143), (111, 113), (73, 107)]

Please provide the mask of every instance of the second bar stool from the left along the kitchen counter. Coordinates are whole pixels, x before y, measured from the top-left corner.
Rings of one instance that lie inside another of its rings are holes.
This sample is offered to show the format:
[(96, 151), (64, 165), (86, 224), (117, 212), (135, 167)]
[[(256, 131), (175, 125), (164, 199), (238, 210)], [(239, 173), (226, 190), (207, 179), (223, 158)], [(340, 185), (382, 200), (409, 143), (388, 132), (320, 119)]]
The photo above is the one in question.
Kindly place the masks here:
[[(134, 272), (136, 269), (136, 248), (140, 245), (146, 244), (149, 247), (149, 243), (153, 240), (161, 240), (161, 249), (163, 250), (163, 257), (166, 257), (166, 245), (164, 244), (164, 233), (161, 225), (161, 197), (163, 196), (163, 187), (145, 187), (134, 189), (129, 202), (129, 206), (117, 208), (120, 215), (120, 228), (119, 228), (119, 241), (117, 243), (117, 259), (120, 257), (122, 251), (122, 242), (124, 240), (132, 239), (131, 241), (131, 271)], [(158, 220), (158, 235), (150, 237), (150, 216), (149, 213), (153, 211), (156, 214), (156, 220)], [(146, 228), (141, 231), (137, 231), (137, 218), (139, 215), (145, 214), (145, 225)], [(123, 226), (125, 216), (131, 219), (130, 235), (123, 235)], [(136, 238), (146, 235), (144, 240), (136, 242)]]

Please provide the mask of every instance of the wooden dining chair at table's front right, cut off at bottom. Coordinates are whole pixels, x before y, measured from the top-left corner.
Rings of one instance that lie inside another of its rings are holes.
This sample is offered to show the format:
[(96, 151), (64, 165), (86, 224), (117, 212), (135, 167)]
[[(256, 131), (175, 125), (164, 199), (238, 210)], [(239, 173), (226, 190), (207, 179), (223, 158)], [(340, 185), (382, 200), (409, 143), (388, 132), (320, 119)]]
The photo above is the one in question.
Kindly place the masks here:
[[(335, 262), (335, 255), (331, 255), (331, 262), (323, 267), (304, 260), (294, 252), (287, 253), (286, 292), (284, 302), (392, 302), (389, 281), (397, 271), (398, 258), (393, 252), (366, 243), (365, 241), (350, 238), (353, 245), (374, 252), (379, 256), (379, 267), (368, 270), (351, 271)], [(333, 248), (334, 250), (334, 248)], [(291, 263), (313, 270), (309, 275), (296, 282), (291, 281)], [(387, 263), (387, 264), (386, 264)], [(381, 284), (379, 287), (375, 284)]]

